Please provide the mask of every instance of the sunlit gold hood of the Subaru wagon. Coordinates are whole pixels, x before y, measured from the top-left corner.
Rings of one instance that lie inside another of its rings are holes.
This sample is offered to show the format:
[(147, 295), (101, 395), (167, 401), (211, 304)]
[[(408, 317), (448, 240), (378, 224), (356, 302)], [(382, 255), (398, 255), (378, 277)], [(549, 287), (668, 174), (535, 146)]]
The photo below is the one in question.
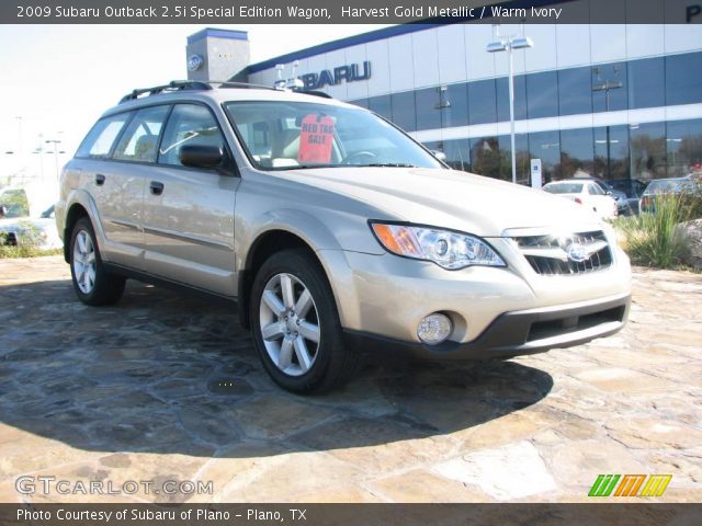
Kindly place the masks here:
[(540, 190), (467, 172), (415, 168), (286, 170), (281, 176), (361, 201), (386, 217), (499, 237), (514, 228), (598, 228), (581, 205)]

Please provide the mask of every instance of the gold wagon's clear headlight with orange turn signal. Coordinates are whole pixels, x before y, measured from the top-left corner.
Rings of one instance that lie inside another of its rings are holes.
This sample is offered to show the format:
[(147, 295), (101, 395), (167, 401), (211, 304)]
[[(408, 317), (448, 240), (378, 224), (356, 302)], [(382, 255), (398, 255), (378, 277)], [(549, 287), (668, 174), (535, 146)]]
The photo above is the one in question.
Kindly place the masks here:
[(432, 261), (456, 271), (466, 266), (507, 266), (492, 248), (475, 236), (431, 227), (371, 222), (378, 242), (389, 252)]

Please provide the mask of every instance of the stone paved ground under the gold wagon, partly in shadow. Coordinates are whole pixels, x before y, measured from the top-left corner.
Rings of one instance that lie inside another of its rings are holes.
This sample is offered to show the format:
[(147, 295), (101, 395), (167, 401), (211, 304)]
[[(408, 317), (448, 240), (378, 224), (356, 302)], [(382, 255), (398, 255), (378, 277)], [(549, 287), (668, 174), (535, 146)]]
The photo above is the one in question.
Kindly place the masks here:
[[(0, 502), (587, 501), (599, 473), (672, 473), (661, 501), (700, 502), (701, 305), (702, 275), (638, 270), (613, 338), (370, 365), (301, 398), (268, 380), (230, 308), (134, 282), (89, 308), (60, 258), (0, 261)], [(20, 476), (214, 494), (24, 496)]]

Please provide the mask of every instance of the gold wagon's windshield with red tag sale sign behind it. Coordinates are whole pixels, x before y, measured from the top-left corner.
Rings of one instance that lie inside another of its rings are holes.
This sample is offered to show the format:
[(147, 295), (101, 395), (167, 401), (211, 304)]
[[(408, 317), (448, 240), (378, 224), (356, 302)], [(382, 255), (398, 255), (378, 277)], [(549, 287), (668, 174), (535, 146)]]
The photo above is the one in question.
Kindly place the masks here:
[(228, 102), (225, 110), (262, 170), (317, 167), (443, 165), (421, 146), (363, 110), (306, 102)]

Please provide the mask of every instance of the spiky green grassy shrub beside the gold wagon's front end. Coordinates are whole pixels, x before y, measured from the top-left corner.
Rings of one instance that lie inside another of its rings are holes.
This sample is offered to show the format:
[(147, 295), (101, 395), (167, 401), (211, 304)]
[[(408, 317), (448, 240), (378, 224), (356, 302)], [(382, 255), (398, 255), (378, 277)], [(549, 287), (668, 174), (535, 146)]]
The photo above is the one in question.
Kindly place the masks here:
[(676, 229), (690, 219), (689, 199), (676, 194), (656, 197), (656, 213), (621, 217), (614, 221), (622, 239), (622, 248), (632, 263), (671, 268), (679, 265), (686, 251), (684, 240)]

